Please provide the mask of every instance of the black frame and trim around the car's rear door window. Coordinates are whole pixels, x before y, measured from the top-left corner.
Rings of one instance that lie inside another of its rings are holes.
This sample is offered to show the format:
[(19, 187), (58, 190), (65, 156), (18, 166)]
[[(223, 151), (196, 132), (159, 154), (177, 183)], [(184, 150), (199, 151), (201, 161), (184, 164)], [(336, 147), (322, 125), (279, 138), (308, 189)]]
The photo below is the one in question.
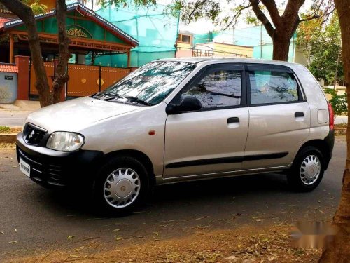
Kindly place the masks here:
[[(289, 74), (293, 74), (295, 81), (297, 82), (297, 96), (298, 100), (290, 101), (290, 102), (272, 102), (272, 103), (261, 103), (261, 104), (251, 104), (251, 80), (249, 76), (249, 71), (274, 71), (274, 72), (286, 72)], [(270, 106), (270, 105), (279, 105), (279, 104), (293, 104), (300, 102), (307, 102), (306, 97), (304, 95), (304, 90), (301, 86), (300, 80), (297, 78), (295, 72), (289, 67), (283, 65), (269, 65), (269, 64), (246, 64), (245, 65), (246, 72), (246, 97), (247, 97), (247, 106), (248, 107), (259, 107), (259, 106)]]

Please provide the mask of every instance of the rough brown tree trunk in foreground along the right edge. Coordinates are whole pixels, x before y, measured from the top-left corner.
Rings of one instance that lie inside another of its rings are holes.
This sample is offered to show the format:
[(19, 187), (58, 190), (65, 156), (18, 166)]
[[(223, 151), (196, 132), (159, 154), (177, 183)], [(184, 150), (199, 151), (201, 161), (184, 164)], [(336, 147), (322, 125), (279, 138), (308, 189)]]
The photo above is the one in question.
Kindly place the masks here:
[[(350, 0), (335, 0), (342, 32), (342, 54), (344, 78), (348, 104), (350, 105)], [(349, 262), (350, 260), (350, 107), (348, 107), (348, 126), (346, 133), (346, 164), (343, 175), (342, 196), (333, 224), (339, 228), (335, 240), (323, 250), (320, 262)]]

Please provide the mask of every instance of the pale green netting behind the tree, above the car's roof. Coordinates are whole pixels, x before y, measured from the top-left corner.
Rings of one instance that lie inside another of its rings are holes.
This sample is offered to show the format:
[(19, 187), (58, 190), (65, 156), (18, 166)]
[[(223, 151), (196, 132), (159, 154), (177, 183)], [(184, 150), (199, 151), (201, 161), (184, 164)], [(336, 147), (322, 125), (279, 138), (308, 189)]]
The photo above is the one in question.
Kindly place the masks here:
[[(288, 61), (293, 62), (295, 55), (295, 37), (291, 39)], [(224, 31), (194, 34), (193, 45), (208, 42), (230, 43), (239, 46), (253, 46), (253, 58), (272, 59), (272, 39), (265, 27), (255, 26), (241, 29), (227, 29)]]

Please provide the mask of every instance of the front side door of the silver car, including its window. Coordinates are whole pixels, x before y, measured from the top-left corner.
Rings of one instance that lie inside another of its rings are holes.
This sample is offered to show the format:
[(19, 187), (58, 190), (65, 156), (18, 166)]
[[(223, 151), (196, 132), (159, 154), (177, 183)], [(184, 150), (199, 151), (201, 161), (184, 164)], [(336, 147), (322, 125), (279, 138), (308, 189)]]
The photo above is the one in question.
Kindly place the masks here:
[(241, 169), (248, 134), (244, 76), (243, 65), (209, 66), (174, 97), (174, 104), (195, 97), (202, 109), (167, 116), (165, 178)]

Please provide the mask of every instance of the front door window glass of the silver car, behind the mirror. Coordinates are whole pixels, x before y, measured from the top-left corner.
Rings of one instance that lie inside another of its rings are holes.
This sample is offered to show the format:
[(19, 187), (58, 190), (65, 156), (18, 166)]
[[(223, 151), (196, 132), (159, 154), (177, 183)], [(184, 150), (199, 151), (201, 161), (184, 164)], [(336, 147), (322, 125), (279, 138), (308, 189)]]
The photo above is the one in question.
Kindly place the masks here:
[(209, 72), (194, 86), (181, 94), (196, 97), (202, 109), (232, 107), (241, 104), (241, 71), (216, 70)]

